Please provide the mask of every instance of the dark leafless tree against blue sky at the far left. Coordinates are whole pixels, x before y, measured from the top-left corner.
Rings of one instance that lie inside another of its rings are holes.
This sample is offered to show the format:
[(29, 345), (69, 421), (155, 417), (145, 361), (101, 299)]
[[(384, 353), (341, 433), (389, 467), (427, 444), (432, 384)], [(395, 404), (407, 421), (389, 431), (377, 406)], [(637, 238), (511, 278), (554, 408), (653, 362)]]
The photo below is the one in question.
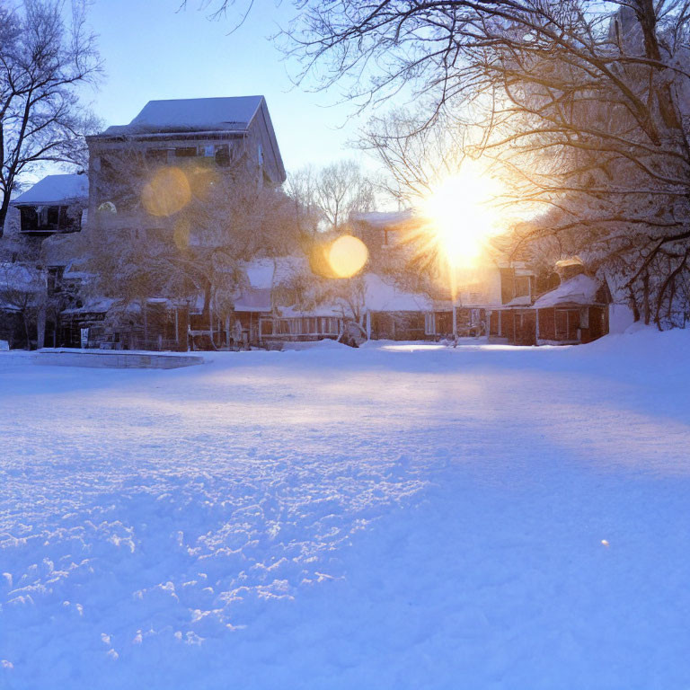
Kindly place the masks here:
[(37, 164), (84, 164), (82, 134), (93, 124), (76, 89), (101, 62), (86, 29), (86, 0), (22, 0), (0, 6), (0, 236), (10, 197)]

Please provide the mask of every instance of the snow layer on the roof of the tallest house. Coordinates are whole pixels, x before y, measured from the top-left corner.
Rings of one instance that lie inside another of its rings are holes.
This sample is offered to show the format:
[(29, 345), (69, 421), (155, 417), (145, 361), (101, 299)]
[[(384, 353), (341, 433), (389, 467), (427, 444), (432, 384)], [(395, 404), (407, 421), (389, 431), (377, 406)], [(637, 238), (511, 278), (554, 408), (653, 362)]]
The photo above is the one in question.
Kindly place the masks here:
[(103, 134), (242, 130), (249, 127), (263, 96), (182, 98), (149, 101), (128, 125), (115, 125)]

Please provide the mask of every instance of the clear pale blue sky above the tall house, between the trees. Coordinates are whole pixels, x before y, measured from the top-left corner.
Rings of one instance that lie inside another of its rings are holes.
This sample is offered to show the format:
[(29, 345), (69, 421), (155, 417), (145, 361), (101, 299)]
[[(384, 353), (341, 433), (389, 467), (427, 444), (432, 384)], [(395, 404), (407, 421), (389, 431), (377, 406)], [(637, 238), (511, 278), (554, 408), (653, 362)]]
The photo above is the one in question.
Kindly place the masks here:
[(289, 0), (258, 0), (234, 32), (238, 15), (209, 22), (199, 2), (178, 12), (179, 0), (95, 0), (90, 23), (106, 75), (84, 96), (107, 125), (127, 124), (155, 99), (262, 94), (288, 171), (361, 156), (347, 146), (357, 130), (348, 122), (353, 109), (332, 106), (339, 93), (294, 87), (296, 65), (267, 38), (294, 12)]

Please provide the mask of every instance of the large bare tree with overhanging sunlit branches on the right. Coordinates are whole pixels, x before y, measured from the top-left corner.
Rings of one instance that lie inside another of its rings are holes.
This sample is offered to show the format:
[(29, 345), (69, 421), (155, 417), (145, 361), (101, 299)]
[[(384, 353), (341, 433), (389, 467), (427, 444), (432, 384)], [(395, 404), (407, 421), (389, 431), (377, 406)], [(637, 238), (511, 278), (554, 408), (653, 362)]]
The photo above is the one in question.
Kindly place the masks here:
[(481, 125), (466, 150), (502, 166), (507, 203), (544, 209), (518, 242), (562, 237), (661, 327), (690, 316), (688, 22), (683, 0), (342, 0), (286, 35), (302, 78)]

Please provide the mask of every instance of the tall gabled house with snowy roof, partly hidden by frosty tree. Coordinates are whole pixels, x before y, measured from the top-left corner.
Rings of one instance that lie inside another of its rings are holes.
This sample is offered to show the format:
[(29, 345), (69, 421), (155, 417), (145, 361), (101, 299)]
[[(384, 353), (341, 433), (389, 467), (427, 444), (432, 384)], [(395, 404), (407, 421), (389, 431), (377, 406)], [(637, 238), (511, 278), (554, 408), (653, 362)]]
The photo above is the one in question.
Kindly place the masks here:
[[(107, 128), (87, 143), (90, 231), (105, 238), (120, 234), (137, 242), (145, 234), (167, 232), (162, 217), (181, 210), (184, 194), (199, 180), (261, 187), (286, 179), (263, 96), (151, 101), (128, 125)], [(237, 303), (231, 323), (228, 314), (214, 312), (205, 292), (173, 298), (161, 291), (144, 305), (97, 298), (71, 316), (80, 322), (79, 331), (90, 328), (89, 341), (101, 347), (187, 349), (252, 341), (265, 307), (252, 310), (241, 295), (230, 296)], [(236, 332), (237, 323), (242, 332)]]

